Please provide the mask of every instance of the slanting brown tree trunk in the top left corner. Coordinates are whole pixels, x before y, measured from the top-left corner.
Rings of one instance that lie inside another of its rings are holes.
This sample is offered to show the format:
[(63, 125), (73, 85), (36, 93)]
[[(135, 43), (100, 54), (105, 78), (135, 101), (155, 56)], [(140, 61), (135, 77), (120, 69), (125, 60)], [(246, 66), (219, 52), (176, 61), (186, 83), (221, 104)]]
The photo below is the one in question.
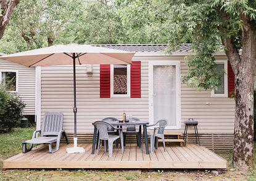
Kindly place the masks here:
[(2, 10), (2, 17), (0, 18), (0, 39), (4, 36), (4, 31), (6, 30), (6, 26), (9, 23), (10, 16), (14, 11), (14, 7), (19, 4), (20, 0), (10, 0), (6, 6), (6, 0), (0, 1), (0, 6)]

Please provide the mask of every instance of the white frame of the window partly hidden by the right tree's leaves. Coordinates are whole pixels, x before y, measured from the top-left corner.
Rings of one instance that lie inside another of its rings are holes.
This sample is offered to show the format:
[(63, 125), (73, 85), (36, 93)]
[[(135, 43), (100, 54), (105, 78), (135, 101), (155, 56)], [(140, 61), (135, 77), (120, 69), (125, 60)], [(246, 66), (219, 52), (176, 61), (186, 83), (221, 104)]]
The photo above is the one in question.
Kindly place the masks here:
[(215, 90), (211, 91), (211, 98), (228, 98), (228, 60), (216, 60), (217, 64), (224, 64), (224, 94), (215, 94)]

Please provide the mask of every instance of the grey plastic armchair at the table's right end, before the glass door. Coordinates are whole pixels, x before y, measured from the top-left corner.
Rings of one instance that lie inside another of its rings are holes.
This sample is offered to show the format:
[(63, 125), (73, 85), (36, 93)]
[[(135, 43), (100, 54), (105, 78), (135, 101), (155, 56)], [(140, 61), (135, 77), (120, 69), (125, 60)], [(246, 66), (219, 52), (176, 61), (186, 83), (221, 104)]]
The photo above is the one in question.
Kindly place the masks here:
[[(147, 125), (147, 127), (151, 127), (151, 126), (157, 126), (154, 128), (154, 133), (147, 133), (147, 136), (150, 137), (151, 139), (151, 153), (154, 153), (154, 145), (155, 145), (155, 149), (158, 148), (158, 138), (160, 137), (163, 140), (163, 150), (165, 151), (165, 136), (163, 134), (163, 131), (165, 131), (165, 126), (167, 126), (168, 122), (165, 119), (159, 120), (157, 121), (157, 123), (155, 123), (154, 125)], [(156, 130), (158, 129), (158, 132), (156, 132)], [(144, 141), (144, 134), (142, 137), (142, 143), (141, 143), (141, 150), (143, 149), (143, 141)]]

